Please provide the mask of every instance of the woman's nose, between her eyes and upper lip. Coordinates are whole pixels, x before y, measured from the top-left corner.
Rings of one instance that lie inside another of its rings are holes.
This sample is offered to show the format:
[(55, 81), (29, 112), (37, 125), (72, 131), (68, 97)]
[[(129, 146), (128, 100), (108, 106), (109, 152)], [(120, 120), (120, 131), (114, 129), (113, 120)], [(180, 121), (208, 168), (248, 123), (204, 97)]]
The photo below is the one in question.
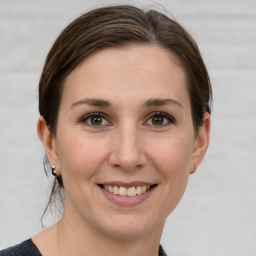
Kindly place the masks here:
[(124, 171), (135, 171), (147, 162), (142, 135), (135, 127), (117, 129), (111, 141), (109, 163)]

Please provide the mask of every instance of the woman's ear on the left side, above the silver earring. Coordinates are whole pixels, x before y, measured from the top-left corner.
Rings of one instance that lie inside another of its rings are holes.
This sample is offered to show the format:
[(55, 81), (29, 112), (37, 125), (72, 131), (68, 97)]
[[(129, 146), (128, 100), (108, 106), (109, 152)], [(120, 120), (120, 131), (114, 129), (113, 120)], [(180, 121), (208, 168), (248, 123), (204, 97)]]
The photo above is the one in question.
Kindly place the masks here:
[(45, 119), (42, 116), (39, 117), (37, 122), (37, 133), (44, 146), (49, 163), (56, 167), (56, 174), (58, 175), (59, 158), (56, 137), (50, 132)]

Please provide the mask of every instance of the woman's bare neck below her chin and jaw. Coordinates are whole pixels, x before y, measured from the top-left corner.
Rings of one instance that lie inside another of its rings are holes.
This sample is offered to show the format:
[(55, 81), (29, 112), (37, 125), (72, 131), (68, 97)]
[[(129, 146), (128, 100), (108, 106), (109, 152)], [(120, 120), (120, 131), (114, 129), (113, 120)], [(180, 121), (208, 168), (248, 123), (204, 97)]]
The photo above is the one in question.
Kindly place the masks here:
[(163, 225), (143, 236), (120, 238), (107, 235), (77, 216), (69, 218), (64, 211), (56, 225), (58, 251), (63, 256), (112, 256), (113, 252), (122, 256), (157, 256)]

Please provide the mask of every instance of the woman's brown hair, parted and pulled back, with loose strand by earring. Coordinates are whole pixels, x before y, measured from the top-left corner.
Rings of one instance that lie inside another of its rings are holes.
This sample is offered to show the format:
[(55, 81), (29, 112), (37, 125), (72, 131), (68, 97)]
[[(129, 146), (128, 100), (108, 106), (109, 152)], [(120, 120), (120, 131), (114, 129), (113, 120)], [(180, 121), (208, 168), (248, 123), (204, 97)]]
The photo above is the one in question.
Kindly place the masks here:
[[(83, 14), (53, 44), (39, 82), (39, 112), (52, 134), (56, 133), (65, 78), (96, 49), (128, 44), (165, 48), (180, 60), (187, 74), (192, 120), (197, 131), (204, 112), (211, 112), (210, 79), (197, 44), (182, 26), (158, 11), (119, 5)], [(55, 180), (48, 205), (60, 186), (61, 180), (59, 186)]]

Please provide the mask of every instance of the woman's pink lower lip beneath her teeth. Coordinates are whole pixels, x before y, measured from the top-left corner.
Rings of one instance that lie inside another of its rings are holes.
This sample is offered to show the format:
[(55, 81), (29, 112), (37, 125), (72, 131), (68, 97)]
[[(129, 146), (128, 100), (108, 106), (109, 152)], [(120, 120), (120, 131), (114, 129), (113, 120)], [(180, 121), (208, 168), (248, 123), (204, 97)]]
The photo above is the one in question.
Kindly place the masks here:
[(133, 206), (133, 205), (140, 204), (140, 203), (144, 202), (145, 200), (147, 200), (151, 196), (151, 194), (155, 190), (155, 188), (156, 188), (156, 186), (152, 187), (145, 193), (142, 193), (142, 194), (136, 195), (136, 196), (120, 196), (120, 195), (115, 195), (115, 194), (105, 190), (104, 188), (100, 187), (101, 191), (105, 194), (105, 196), (111, 202), (113, 202), (119, 206)]

